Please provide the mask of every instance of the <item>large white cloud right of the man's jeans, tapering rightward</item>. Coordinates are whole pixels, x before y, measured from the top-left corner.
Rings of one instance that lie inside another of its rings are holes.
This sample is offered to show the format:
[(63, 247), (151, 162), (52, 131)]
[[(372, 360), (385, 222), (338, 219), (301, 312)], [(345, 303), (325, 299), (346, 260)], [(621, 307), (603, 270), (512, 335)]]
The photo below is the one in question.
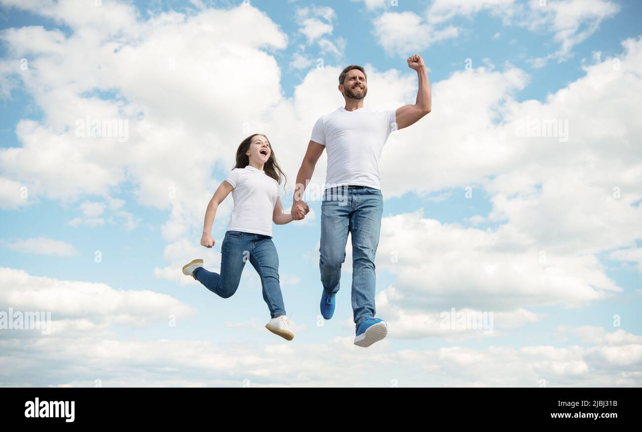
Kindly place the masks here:
[(397, 303), (415, 312), (577, 307), (621, 291), (596, 257), (543, 255), (516, 234), (444, 224), (421, 212), (385, 217), (377, 269), (396, 276)]

